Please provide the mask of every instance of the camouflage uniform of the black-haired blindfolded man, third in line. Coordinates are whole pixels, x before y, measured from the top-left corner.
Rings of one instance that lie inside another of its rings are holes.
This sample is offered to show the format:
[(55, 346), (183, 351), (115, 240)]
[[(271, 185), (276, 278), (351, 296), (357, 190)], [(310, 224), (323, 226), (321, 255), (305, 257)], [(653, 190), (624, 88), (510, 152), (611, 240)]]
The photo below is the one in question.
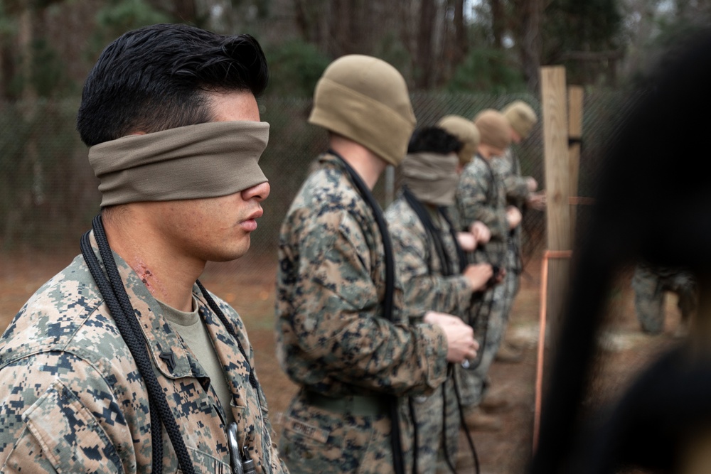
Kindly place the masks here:
[[(405, 290), (405, 306), (415, 308), (415, 313), (419, 314), (431, 309), (464, 316), (469, 310), (472, 297), (471, 285), (460, 273), (456, 244), (447, 220), (432, 207), (427, 207), (427, 210), (432, 211), (430, 217), (442, 236), (447, 259), (451, 262), (450, 276), (445, 276), (447, 269), (437, 257), (434, 242), (402, 196), (385, 212), (392, 237), (392, 252)], [(417, 322), (412, 321), (413, 324)], [(461, 365), (456, 367), (461, 370)], [(447, 412), (443, 414), (445, 398)], [(419, 473), (435, 473), (438, 463), (440, 470), (446, 470), (444, 453), (454, 461), (459, 445), (459, 407), (454, 381), (450, 377), (437, 392), (429, 397), (415, 397), (413, 402), (417, 423), (417, 470)], [(444, 430), (447, 446), (443, 444), (443, 416), (447, 426)]]

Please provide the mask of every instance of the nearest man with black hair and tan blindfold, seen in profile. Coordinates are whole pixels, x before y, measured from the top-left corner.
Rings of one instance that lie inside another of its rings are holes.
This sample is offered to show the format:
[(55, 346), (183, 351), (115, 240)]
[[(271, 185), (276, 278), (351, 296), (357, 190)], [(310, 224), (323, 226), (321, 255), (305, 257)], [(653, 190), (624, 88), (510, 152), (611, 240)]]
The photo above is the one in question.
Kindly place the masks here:
[(185, 25), (102, 52), (77, 116), (102, 211), (0, 340), (0, 470), (286, 472), (240, 316), (197, 282), (269, 195), (267, 75), (251, 36)]

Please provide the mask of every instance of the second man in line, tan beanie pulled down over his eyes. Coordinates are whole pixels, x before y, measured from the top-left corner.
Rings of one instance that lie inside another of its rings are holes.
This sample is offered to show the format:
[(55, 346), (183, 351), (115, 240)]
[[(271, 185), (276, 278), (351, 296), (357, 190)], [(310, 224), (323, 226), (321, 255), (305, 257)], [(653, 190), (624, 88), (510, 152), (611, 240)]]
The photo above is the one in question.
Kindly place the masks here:
[[(383, 60), (326, 68), (309, 122), (330, 149), (279, 239), (277, 355), (301, 387), (280, 451), (292, 473), (410, 472), (407, 396), (432, 393), (448, 362), (474, 357), (455, 316), (403, 311), (390, 235), (370, 190), (405, 157), (415, 128), (405, 80)], [(410, 325), (410, 316), (423, 323)]]

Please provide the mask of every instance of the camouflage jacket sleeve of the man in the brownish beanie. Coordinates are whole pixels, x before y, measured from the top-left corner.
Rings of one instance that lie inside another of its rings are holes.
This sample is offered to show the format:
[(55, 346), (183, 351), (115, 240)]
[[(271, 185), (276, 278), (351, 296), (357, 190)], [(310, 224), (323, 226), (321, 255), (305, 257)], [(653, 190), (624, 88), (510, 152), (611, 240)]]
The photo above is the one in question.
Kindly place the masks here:
[(501, 216), (494, 207), (496, 203), (488, 203), (487, 193), (491, 186), (490, 173), (486, 163), (481, 158), (475, 159), (464, 168), (456, 187), (456, 207), (459, 213), (460, 229), (468, 229), (475, 221), (483, 222), (491, 230), (491, 238), (503, 240), (501, 232)]

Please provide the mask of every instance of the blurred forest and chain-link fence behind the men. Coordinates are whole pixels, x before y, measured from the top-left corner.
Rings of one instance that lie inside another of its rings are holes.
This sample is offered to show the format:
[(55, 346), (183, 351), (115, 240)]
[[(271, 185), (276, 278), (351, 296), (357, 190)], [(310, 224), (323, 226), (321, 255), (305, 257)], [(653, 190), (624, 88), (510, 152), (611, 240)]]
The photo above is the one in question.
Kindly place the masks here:
[[(260, 108), (272, 129), (261, 163), (272, 196), (257, 237), (270, 252), (308, 163), (324, 149), (324, 134), (305, 122), (334, 58), (365, 53), (395, 65), (419, 124), (513, 99), (540, 112), (538, 68), (565, 65), (567, 82), (586, 91), (584, 195), (648, 71), (710, 18), (703, 0), (0, 0), (0, 252), (74, 248), (96, 214), (75, 112), (102, 48), (132, 28), (183, 22), (262, 43), (271, 80)], [(542, 183), (540, 124), (519, 154)], [(376, 190), (384, 200), (383, 184)], [(540, 236), (538, 215), (529, 227)]]

